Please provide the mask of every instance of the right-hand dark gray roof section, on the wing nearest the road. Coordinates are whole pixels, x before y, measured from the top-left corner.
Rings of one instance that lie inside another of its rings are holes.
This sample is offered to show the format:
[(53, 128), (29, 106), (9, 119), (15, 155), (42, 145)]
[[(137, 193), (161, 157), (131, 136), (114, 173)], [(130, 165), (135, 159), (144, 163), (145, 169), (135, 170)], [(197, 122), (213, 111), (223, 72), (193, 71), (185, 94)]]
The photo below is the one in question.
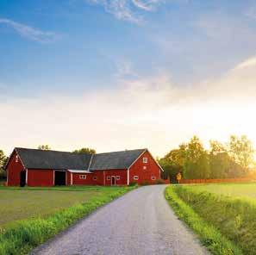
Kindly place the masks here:
[(100, 153), (92, 156), (90, 171), (126, 169), (139, 158), (146, 149)]

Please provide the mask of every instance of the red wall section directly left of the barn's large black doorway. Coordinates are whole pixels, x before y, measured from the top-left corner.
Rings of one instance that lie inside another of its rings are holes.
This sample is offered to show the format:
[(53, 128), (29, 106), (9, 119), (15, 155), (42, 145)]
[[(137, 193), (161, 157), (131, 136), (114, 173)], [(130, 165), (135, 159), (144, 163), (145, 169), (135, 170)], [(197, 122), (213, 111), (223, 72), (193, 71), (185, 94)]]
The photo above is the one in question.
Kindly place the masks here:
[(28, 169), (28, 186), (50, 187), (53, 185), (53, 170)]

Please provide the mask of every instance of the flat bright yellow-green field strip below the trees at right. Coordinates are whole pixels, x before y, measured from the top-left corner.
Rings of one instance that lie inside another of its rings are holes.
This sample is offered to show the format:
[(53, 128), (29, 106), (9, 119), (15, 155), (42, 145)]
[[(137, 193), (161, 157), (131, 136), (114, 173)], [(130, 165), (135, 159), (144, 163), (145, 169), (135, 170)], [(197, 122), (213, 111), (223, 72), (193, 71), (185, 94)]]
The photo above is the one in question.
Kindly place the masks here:
[(256, 183), (218, 183), (185, 185), (190, 190), (208, 191), (218, 195), (256, 198)]

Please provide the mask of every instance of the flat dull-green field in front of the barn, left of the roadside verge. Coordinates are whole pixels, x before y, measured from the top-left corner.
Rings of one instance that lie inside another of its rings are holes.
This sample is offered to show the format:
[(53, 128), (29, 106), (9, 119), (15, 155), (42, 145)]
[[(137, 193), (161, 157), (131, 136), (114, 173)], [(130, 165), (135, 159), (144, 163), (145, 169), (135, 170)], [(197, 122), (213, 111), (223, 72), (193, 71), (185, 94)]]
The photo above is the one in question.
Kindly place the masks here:
[(113, 192), (117, 187), (9, 188), (0, 187), (0, 227), (16, 220), (46, 217), (78, 203)]

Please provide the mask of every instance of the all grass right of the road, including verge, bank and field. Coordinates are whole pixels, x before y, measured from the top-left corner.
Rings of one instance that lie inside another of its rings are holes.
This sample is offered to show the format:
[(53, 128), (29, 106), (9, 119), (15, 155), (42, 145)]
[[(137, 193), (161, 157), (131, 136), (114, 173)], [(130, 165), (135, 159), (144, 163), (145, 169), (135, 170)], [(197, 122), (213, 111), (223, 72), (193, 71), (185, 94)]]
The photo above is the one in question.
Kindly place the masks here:
[(256, 254), (256, 184), (172, 185), (165, 197), (213, 254)]

